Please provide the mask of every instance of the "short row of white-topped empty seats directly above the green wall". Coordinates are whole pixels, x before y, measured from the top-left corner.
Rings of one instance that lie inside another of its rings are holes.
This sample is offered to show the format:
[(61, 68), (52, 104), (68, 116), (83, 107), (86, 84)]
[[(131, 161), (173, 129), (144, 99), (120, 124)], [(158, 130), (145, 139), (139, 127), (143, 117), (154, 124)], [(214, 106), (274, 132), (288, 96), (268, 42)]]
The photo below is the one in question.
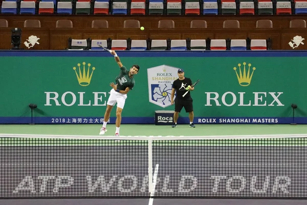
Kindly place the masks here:
[(69, 50), (270, 50), (270, 39), (69, 39)]

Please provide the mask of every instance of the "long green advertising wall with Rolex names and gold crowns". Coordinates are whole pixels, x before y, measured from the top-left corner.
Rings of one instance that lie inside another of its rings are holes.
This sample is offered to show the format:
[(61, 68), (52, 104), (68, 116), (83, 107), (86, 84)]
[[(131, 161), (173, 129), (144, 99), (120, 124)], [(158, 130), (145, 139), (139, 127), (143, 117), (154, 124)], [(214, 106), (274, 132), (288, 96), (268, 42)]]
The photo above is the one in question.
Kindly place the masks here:
[[(200, 79), (191, 92), (195, 123), (291, 123), (291, 104), (298, 106), (297, 123), (307, 123), (306, 52), (122, 51), (118, 55), (127, 68), (140, 66), (135, 88), (127, 94), (123, 124), (153, 124), (156, 110), (174, 109), (150, 101), (150, 80), (156, 71), (148, 79), (147, 69), (155, 67), (161, 68), (156, 73), (162, 84), (176, 79), (178, 68), (193, 82)], [(28, 123), (30, 103), (37, 105), (37, 124), (100, 123), (112, 89), (109, 83), (120, 71), (114, 57), (101, 51), (6, 51), (0, 52), (0, 60), (1, 124)], [(180, 116), (182, 122), (187, 120), (184, 109)], [(111, 123), (114, 117), (115, 109)]]

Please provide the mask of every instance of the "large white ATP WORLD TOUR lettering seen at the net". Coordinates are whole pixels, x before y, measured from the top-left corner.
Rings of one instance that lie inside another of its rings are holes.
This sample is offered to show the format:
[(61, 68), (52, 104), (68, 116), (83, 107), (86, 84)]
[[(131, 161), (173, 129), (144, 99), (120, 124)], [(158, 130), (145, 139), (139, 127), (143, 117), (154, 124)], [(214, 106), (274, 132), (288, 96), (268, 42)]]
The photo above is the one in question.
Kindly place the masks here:
[[(78, 180), (82, 182), (86, 181), (86, 183), (78, 183)], [(208, 180), (208, 182), (201, 182), (203, 179), (196, 178), (192, 175), (182, 175), (180, 180), (176, 180), (176, 183), (173, 183), (171, 176), (164, 176), (162, 180), (158, 177), (156, 179), (157, 186), (155, 192), (187, 193), (200, 188), (202, 190), (208, 190), (208, 193), (213, 192), (217, 194), (218, 192), (223, 193), (225, 190), (229, 193), (239, 193), (246, 189), (249, 189), (252, 193), (290, 193), (289, 186), (291, 185), (291, 178), (288, 176), (266, 176), (265, 180), (259, 180), (257, 176), (210, 176), (205, 180)], [(117, 185), (115, 185), (115, 182), (117, 182)], [(129, 186), (127, 187), (125, 183)], [(236, 183), (235, 188), (233, 183)], [(208, 188), (208, 184), (212, 186)], [(25, 191), (32, 194), (53, 192), (60, 195), (61, 192), (65, 193), (65, 191), (67, 191), (66, 189), (76, 189), (77, 191), (80, 190), (80, 188), (84, 191), (87, 190), (88, 193), (106, 193), (111, 190), (111, 192), (114, 192), (114, 189), (125, 193), (148, 192), (148, 176), (144, 176), (141, 180), (134, 175), (114, 175), (111, 178), (105, 176), (84, 176), (78, 177), (78, 179), (72, 176), (26, 176), (20, 181), (19, 185), (15, 187), (13, 193), (18, 194), (19, 192)]]

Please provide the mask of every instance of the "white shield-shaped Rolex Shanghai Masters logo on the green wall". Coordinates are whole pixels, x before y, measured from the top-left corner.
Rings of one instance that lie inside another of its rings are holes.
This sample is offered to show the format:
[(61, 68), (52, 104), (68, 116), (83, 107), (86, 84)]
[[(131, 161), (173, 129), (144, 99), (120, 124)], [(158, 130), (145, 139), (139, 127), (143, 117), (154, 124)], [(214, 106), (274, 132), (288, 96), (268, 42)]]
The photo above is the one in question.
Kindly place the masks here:
[(162, 108), (170, 106), (173, 81), (178, 78), (179, 68), (157, 66), (147, 69), (149, 102)]

